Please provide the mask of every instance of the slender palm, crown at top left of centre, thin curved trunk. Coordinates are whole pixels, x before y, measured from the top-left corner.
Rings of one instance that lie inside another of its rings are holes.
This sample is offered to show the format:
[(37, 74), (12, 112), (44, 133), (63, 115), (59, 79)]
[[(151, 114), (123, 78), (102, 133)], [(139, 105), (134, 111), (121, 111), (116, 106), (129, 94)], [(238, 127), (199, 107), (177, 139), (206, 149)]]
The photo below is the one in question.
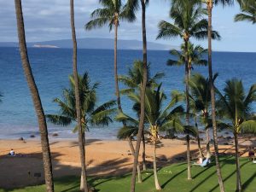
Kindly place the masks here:
[(119, 95), (119, 82), (118, 82), (118, 67), (117, 67), (117, 41), (118, 41), (118, 27), (120, 20), (128, 20), (132, 22), (136, 20), (134, 12), (128, 12), (127, 6), (123, 5), (122, 0), (99, 0), (102, 4), (102, 9), (96, 9), (91, 13), (91, 18), (86, 25), (86, 30), (91, 30), (96, 27), (102, 27), (106, 24), (109, 26), (109, 31), (114, 26), (114, 83), (115, 83), (115, 95), (117, 96), (117, 103), (119, 111), (122, 112), (120, 95)]

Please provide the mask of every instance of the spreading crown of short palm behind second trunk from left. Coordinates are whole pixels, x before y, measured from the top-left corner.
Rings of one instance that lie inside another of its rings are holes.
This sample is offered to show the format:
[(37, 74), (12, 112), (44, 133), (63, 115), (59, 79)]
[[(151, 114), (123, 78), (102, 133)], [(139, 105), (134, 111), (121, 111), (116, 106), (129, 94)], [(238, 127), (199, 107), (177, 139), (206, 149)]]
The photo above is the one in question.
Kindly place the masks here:
[[(47, 118), (56, 125), (71, 125), (76, 121), (76, 108), (74, 96), (74, 79), (69, 76), (70, 88), (62, 92), (62, 100), (55, 98), (54, 102), (60, 107), (59, 114), (48, 114)], [(88, 73), (79, 76), (79, 95), (81, 103), (81, 122), (84, 130), (89, 130), (89, 126), (108, 125), (113, 122), (113, 115), (116, 113), (115, 102), (105, 102), (96, 107), (96, 88), (98, 83), (91, 84)], [(73, 131), (77, 131), (77, 126)]]

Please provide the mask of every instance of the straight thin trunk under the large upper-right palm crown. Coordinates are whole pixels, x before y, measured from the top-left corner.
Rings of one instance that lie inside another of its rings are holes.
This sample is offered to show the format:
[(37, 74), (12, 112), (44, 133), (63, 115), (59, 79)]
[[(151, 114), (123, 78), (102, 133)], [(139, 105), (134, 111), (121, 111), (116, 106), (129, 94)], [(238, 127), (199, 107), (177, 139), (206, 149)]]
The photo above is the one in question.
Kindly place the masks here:
[[(188, 40), (185, 40), (185, 76), (186, 76), (186, 125), (189, 125), (189, 58), (188, 58)], [(187, 135), (187, 162), (188, 162), (188, 179), (191, 179), (191, 166), (190, 166), (190, 148)]]

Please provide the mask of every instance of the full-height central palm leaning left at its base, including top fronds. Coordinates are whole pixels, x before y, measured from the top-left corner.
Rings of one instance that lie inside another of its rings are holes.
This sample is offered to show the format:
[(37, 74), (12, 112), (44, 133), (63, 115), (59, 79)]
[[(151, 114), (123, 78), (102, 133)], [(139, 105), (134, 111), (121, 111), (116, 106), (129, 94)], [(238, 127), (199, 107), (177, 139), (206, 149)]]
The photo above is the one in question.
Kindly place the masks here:
[[(142, 6), (142, 30), (143, 30), (143, 84), (140, 91), (141, 96), (141, 112), (140, 112), (140, 121), (139, 121), (139, 130), (137, 134), (137, 143), (135, 148), (134, 163), (131, 176), (131, 192), (135, 192), (135, 183), (136, 183), (136, 170), (138, 164), (138, 155), (140, 151), (140, 144), (143, 136), (143, 127), (144, 127), (144, 118), (145, 118), (145, 92), (147, 86), (147, 77), (148, 77), (148, 55), (147, 55), (147, 34), (146, 34), (146, 5), (149, 3), (149, 0), (140, 0)], [(139, 7), (139, 0), (127, 0), (127, 12), (131, 15)]]

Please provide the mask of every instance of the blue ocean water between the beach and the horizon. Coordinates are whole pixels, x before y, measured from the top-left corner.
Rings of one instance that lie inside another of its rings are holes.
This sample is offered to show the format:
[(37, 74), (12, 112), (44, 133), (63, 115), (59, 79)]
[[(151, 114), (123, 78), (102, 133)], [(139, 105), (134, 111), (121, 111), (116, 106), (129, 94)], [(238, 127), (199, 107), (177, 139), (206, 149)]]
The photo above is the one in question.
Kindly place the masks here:
[[(72, 49), (28, 49), (32, 71), (38, 84), (45, 113), (57, 113), (58, 108), (52, 100), (61, 96), (61, 90), (68, 87), (67, 76), (73, 73)], [(151, 73), (164, 72), (163, 89), (167, 96), (171, 90), (183, 90), (183, 67), (167, 67), (170, 58), (168, 51), (148, 50), (148, 61)], [(125, 74), (134, 60), (142, 59), (141, 50), (119, 50), (119, 74)], [(213, 72), (219, 77), (216, 85), (224, 87), (227, 79), (242, 79), (248, 89), (256, 83), (256, 53), (213, 53)], [(79, 73), (89, 72), (92, 82), (100, 82), (97, 90), (98, 104), (115, 99), (113, 79), (113, 50), (79, 49)], [(195, 67), (193, 73), (207, 76), (207, 67)], [(120, 85), (122, 86), (122, 85)], [(0, 138), (19, 138), (38, 135), (38, 123), (32, 105), (32, 98), (24, 77), (19, 49), (0, 48), (0, 92), (3, 102), (0, 103)], [(131, 102), (122, 97), (125, 113), (131, 112)], [(253, 106), (256, 111), (256, 106)], [(76, 137), (73, 125), (61, 127), (48, 124), (49, 135), (58, 133), (61, 138)], [(88, 137), (114, 139), (119, 124), (108, 127), (91, 128)]]

